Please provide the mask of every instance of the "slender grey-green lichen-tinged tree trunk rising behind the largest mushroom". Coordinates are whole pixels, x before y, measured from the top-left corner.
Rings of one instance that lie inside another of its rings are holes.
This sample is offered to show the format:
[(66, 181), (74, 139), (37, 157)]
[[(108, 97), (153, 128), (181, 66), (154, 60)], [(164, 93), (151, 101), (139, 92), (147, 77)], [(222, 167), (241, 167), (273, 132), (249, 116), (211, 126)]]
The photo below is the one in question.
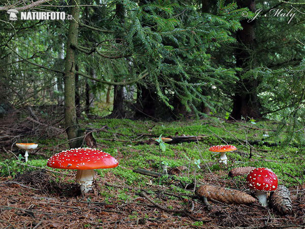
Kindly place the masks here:
[(80, 0), (71, 1), (71, 15), (74, 20), (70, 20), (70, 27), (67, 40), (66, 66), (65, 66), (65, 122), (70, 148), (77, 148), (78, 123), (75, 111), (75, 66), (76, 50), (71, 48), (71, 44), (77, 45), (78, 21)]

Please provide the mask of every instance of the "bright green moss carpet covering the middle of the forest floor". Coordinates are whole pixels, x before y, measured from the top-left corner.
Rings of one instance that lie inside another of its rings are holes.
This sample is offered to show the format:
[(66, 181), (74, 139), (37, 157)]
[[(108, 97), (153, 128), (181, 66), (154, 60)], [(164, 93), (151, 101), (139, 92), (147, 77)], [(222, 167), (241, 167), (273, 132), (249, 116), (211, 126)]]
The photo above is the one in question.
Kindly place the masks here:
[[(132, 141), (147, 140), (154, 138), (154, 135), (159, 136), (174, 136), (178, 135), (202, 135), (203, 141), (200, 142), (185, 142), (182, 144), (165, 144), (166, 151), (161, 152), (161, 162), (166, 163), (170, 167), (186, 165), (190, 166), (189, 173), (185, 177), (179, 177), (181, 181), (192, 182), (194, 179), (194, 161), (200, 159), (201, 169), (196, 170), (196, 179), (204, 179), (206, 173), (209, 173), (208, 168), (215, 174), (227, 173), (233, 167), (238, 166), (256, 166), (271, 168), (279, 177), (279, 183), (286, 186), (293, 186), (297, 181), (303, 183), (305, 180), (305, 160), (304, 153), (301, 149), (294, 147), (267, 147), (263, 145), (253, 146), (253, 157), (249, 159), (249, 149), (236, 144), (236, 139), (241, 140), (261, 140), (264, 130), (260, 129), (276, 129), (276, 123), (270, 121), (251, 123), (236, 123), (230, 124), (219, 119), (209, 118), (204, 120), (194, 121), (176, 121), (176, 122), (158, 122), (153, 121), (133, 121), (128, 119), (97, 119), (97, 120), (82, 120), (83, 125), (92, 128), (100, 128), (107, 125), (107, 132), (100, 131), (95, 134), (97, 142), (104, 145), (102, 149), (119, 160), (119, 166), (112, 169), (98, 169), (97, 173), (104, 177), (105, 173), (113, 173), (122, 182), (135, 186), (146, 186), (148, 180), (152, 180), (155, 184), (158, 179), (150, 178), (144, 175), (133, 173), (135, 168), (146, 168), (157, 171), (160, 165), (159, 147), (157, 145), (137, 145)], [(239, 126), (238, 126), (239, 125)], [(248, 125), (259, 129), (245, 129), (243, 125)], [(152, 136), (140, 136), (138, 134), (149, 133)], [(268, 132), (269, 135), (272, 132)], [(285, 133), (283, 133), (285, 134)], [(208, 151), (211, 145), (225, 144), (218, 136), (226, 139), (228, 144), (233, 144), (238, 151), (228, 152), (228, 164), (219, 164), (219, 154), (214, 154)], [(106, 139), (120, 139), (123, 141), (108, 141)], [(67, 149), (68, 145), (65, 139), (32, 139), (36, 141), (39, 147), (43, 147), (43, 153), (46, 157), (53, 155), (56, 152)], [(269, 142), (277, 142), (279, 139), (269, 137)], [(199, 151), (198, 151), (198, 149)], [(33, 160), (34, 158), (40, 158)], [(16, 173), (24, 173), (27, 170), (35, 170), (36, 168), (18, 165), (17, 160), (4, 160), (0, 162), (0, 174), (2, 176), (14, 176)], [(20, 162), (20, 161), (18, 161)], [(47, 158), (29, 155), (29, 165), (34, 165), (44, 168)], [(20, 162), (21, 163), (21, 162)], [(208, 164), (208, 168), (207, 168)], [(51, 169), (51, 168), (48, 168)], [(62, 172), (64, 170), (61, 170)], [(289, 174), (289, 175), (288, 175)], [(222, 179), (230, 179), (223, 177)], [(245, 178), (240, 178), (245, 179)], [(297, 181), (296, 181), (297, 180)], [(162, 178), (161, 182), (166, 183), (166, 178)], [(167, 184), (168, 185), (168, 184)], [(172, 187), (177, 190), (176, 187)], [(178, 190), (177, 190), (178, 191)], [(182, 192), (179, 190), (179, 192)], [(120, 198), (125, 198), (123, 194)]]

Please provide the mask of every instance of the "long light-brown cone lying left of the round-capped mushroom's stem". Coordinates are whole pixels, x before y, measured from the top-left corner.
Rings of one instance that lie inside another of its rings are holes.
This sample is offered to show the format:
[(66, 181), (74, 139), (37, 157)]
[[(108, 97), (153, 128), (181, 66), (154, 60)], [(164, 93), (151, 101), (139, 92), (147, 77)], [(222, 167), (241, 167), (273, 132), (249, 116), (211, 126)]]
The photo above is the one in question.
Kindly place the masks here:
[(226, 204), (251, 204), (256, 202), (256, 199), (246, 192), (219, 186), (201, 185), (195, 193), (199, 197), (206, 197), (209, 200), (215, 199)]

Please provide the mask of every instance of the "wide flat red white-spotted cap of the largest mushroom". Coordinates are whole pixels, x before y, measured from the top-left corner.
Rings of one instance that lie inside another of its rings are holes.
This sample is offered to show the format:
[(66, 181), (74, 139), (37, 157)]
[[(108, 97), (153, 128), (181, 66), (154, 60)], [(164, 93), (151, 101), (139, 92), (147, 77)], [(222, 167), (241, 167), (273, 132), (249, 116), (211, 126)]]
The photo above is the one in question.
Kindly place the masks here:
[(49, 158), (47, 166), (62, 169), (114, 168), (118, 161), (109, 154), (91, 148), (62, 151)]

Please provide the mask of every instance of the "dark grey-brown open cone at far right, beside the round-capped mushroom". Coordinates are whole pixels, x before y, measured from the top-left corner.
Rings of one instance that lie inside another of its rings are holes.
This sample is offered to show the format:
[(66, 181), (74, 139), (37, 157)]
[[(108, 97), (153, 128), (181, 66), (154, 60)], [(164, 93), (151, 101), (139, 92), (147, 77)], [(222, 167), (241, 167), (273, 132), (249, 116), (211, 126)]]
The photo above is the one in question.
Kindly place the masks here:
[(279, 185), (277, 190), (271, 196), (272, 208), (283, 214), (292, 213), (292, 203), (290, 191), (284, 185)]

